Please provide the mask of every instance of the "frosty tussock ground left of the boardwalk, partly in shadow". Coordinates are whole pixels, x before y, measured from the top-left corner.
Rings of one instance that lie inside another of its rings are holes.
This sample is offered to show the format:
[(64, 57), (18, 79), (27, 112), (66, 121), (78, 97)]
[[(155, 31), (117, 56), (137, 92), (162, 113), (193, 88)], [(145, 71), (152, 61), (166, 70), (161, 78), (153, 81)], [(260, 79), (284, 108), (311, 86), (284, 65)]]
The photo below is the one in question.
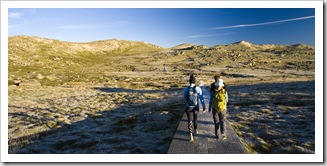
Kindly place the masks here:
[(11, 102), (10, 153), (166, 153), (183, 112), (170, 91), (66, 95)]

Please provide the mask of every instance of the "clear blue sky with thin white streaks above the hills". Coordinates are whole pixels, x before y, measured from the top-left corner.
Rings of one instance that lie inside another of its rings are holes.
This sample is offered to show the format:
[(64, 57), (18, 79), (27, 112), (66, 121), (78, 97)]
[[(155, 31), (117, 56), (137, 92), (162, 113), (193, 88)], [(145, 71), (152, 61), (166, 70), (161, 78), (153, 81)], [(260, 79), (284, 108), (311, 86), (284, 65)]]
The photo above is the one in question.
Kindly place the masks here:
[(314, 8), (9, 8), (8, 35), (215, 46), (315, 43)]

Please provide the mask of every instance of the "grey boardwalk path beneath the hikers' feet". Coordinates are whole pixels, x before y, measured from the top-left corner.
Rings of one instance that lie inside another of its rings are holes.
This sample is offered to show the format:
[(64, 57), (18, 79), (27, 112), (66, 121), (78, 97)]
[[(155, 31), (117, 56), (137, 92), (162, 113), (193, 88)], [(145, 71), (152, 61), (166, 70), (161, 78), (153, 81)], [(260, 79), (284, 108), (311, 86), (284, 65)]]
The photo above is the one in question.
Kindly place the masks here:
[[(201, 89), (207, 108), (209, 107), (209, 94), (205, 84), (201, 83)], [(219, 133), (220, 134), (220, 133)], [(198, 116), (198, 134), (194, 134), (194, 142), (189, 142), (187, 129), (187, 117), (183, 115), (174, 138), (168, 149), (168, 154), (246, 154), (248, 153), (239, 137), (227, 122), (227, 139), (217, 140), (214, 136), (214, 125), (211, 113), (203, 113), (200, 106)]]

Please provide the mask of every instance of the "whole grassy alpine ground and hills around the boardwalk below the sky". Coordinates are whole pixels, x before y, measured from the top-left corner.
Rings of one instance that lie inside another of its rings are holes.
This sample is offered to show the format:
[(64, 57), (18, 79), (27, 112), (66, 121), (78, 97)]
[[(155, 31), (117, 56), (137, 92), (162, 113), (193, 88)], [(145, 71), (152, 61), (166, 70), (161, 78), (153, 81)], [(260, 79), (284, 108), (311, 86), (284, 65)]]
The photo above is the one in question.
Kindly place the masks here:
[(314, 153), (314, 47), (31, 36), (8, 44), (10, 153), (166, 153), (188, 74), (209, 86), (217, 72), (250, 152)]

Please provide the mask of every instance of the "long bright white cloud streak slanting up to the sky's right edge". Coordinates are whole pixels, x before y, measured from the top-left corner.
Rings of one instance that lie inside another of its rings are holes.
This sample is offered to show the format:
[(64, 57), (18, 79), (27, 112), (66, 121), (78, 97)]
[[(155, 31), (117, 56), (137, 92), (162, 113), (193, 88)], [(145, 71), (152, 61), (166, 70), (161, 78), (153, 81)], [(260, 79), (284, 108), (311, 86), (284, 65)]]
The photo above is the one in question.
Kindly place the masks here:
[(310, 18), (314, 18), (314, 17), (315, 16), (306, 16), (306, 17), (298, 17), (298, 18), (292, 18), (292, 19), (286, 19), (286, 20), (279, 20), (279, 21), (262, 22), (262, 23), (256, 23), (256, 24), (231, 25), (231, 26), (210, 28), (210, 30), (231, 29), (231, 28), (243, 28), (243, 27), (253, 27), (253, 26), (263, 26), (263, 25), (277, 24), (277, 23), (283, 23), (283, 22), (305, 20), (305, 19), (310, 19)]

